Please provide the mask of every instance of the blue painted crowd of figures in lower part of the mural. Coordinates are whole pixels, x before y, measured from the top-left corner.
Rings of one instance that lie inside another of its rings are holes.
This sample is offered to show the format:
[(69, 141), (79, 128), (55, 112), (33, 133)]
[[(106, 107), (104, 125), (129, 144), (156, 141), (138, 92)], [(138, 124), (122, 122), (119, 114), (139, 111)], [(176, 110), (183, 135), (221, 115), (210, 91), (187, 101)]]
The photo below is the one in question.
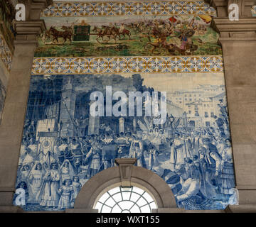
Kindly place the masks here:
[[(137, 132), (54, 138), (44, 154), (34, 126), (26, 127), (16, 187), (26, 189), (29, 204), (41, 209), (70, 209), (87, 179), (115, 165), (115, 158), (137, 158), (137, 166), (154, 171), (171, 187), (179, 207), (224, 209), (234, 201), (233, 157), (226, 106), (220, 103), (216, 127), (156, 126), (138, 119)], [(169, 119), (167, 119), (169, 121)]]

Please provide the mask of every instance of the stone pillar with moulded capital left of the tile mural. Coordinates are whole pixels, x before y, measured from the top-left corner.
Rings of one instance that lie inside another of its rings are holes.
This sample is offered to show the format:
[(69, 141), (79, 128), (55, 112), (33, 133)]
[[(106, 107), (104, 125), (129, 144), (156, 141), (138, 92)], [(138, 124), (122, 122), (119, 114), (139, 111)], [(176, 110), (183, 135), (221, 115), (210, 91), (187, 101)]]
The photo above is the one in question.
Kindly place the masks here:
[(18, 157), (37, 36), (46, 28), (39, 19), (40, 11), (48, 4), (48, 0), (26, 1), (30, 9), (26, 8), (27, 21), (16, 21), (14, 58), (0, 126), (0, 212), (18, 210), (12, 206)]

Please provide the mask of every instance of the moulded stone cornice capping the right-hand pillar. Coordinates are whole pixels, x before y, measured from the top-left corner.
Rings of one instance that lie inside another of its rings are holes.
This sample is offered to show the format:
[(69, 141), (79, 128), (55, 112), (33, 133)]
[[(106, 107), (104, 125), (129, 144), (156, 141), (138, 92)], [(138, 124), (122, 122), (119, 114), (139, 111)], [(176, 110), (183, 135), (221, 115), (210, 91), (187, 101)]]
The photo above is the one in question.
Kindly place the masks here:
[(220, 43), (240, 40), (256, 41), (256, 18), (239, 18), (239, 21), (214, 18), (213, 27), (220, 33)]

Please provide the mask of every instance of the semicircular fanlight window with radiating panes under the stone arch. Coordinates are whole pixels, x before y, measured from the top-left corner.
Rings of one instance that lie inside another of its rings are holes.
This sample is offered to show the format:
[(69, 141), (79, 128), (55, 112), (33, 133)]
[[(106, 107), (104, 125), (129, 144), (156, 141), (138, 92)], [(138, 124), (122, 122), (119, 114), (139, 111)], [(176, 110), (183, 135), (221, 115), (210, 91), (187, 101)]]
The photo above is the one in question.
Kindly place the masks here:
[(100, 213), (151, 213), (156, 209), (151, 195), (138, 187), (115, 187), (105, 192), (95, 208)]

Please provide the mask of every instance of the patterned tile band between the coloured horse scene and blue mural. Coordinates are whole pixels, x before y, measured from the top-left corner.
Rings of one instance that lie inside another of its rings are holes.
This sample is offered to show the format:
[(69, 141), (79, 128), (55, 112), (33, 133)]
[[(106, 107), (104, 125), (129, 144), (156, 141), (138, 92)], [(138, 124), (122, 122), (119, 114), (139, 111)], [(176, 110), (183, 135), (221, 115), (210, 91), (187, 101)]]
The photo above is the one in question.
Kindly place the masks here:
[(221, 56), (35, 57), (32, 74), (223, 72)]

